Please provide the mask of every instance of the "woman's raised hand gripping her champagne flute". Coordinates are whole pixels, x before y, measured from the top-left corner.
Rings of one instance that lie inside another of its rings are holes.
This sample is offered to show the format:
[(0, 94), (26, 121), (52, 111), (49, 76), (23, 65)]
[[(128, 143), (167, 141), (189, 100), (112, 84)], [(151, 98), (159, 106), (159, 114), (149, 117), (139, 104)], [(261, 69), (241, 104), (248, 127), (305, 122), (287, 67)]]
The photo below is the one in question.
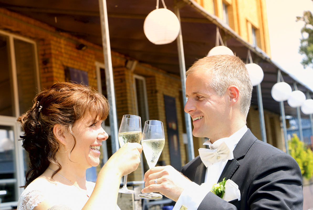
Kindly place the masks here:
[(142, 146), (138, 143), (126, 143), (105, 163), (109, 169), (116, 169), (122, 177), (135, 171), (140, 163)]

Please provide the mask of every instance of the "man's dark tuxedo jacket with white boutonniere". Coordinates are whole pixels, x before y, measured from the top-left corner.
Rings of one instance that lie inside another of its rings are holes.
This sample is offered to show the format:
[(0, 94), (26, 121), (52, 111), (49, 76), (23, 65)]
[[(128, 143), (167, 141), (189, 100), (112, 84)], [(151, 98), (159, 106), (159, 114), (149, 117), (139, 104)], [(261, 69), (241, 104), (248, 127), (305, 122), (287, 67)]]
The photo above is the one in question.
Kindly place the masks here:
[[(297, 162), (248, 131), (233, 151), (219, 178), (231, 179), (240, 190), (241, 200), (226, 202), (209, 192), (198, 210), (208, 209), (303, 209), (302, 176)], [(200, 156), (182, 167), (182, 173), (201, 185), (206, 167)], [(227, 189), (226, 189), (227, 190)]]

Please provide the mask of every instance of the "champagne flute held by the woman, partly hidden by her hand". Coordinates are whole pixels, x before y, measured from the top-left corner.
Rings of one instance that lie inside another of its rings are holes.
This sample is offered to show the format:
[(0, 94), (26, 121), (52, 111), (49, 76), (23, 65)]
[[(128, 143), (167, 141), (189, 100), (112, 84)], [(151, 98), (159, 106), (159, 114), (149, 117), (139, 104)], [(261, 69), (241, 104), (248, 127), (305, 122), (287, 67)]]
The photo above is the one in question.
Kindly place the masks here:
[[(141, 118), (136, 115), (123, 115), (120, 130), (118, 131), (118, 140), (122, 147), (127, 142), (140, 143), (141, 140)], [(126, 186), (127, 175), (124, 176), (124, 184), (118, 192), (135, 193)]]

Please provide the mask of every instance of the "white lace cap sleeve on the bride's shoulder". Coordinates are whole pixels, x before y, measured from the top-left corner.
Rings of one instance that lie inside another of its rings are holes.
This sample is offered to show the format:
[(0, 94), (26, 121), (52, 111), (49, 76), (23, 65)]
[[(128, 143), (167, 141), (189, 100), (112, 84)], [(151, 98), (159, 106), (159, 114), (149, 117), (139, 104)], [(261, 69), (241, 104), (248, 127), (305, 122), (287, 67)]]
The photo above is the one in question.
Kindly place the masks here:
[(38, 190), (27, 191), (25, 189), (18, 199), (18, 210), (33, 210), (42, 201), (44, 201), (42, 192)]

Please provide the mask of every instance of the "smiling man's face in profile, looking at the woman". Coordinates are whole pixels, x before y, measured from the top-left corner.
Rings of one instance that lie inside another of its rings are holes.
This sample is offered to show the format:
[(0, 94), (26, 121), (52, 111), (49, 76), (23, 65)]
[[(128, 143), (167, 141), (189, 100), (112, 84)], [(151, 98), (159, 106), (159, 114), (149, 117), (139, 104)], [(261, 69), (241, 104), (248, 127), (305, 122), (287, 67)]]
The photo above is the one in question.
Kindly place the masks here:
[[(211, 71), (189, 74), (186, 79), (185, 112), (193, 121), (193, 136), (208, 137), (211, 141), (223, 138), (228, 128), (229, 97), (218, 97), (210, 87)], [(227, 132), (226, 132), (227, 133)]]

